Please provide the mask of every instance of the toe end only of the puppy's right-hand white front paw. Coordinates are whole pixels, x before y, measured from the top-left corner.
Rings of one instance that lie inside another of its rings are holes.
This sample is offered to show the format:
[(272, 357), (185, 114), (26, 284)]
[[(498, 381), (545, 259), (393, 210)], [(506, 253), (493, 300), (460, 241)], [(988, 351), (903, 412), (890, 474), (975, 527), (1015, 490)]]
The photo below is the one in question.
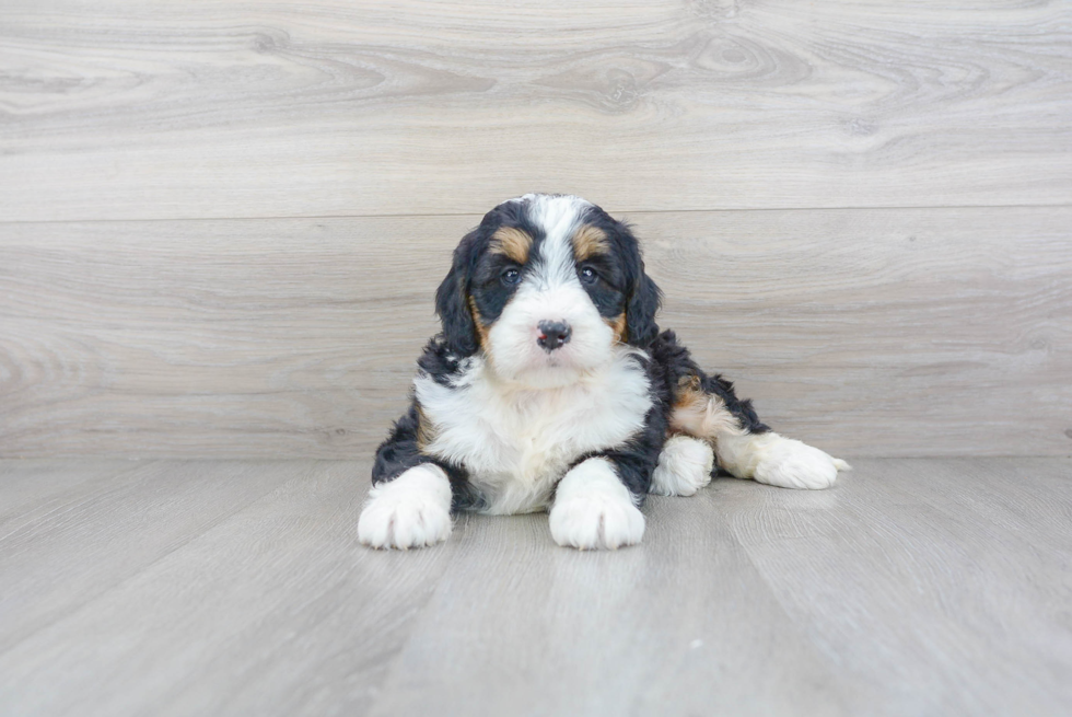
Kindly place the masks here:
[(556, 502), (549, 522), (556, 543), (582, 551), (613, 551), (644, 536), (644, 516), (632, 502), (597, 497)]

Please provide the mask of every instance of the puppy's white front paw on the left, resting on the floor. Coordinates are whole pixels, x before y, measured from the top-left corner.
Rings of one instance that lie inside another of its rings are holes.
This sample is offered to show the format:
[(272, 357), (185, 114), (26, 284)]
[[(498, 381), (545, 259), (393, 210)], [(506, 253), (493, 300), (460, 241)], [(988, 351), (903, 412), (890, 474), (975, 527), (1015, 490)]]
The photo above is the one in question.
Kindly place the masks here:
[(369, 493), (358, 540), (371, 547), (434, 545), (451, 534), (451, 483), (438, 465), (409, 469)]

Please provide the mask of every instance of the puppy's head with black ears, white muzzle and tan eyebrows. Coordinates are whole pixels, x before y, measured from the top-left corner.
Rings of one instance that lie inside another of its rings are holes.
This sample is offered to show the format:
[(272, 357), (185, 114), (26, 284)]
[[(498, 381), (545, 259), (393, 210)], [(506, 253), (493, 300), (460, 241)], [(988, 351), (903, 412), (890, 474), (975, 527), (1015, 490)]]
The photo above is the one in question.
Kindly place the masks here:
[(660, 291), (624, 223), (583, 199), (525, 195), (487, 215), (435, 296), (451, 349), (482, 350), (504, 379), (568, 385), (617, 344), (655, 338)]

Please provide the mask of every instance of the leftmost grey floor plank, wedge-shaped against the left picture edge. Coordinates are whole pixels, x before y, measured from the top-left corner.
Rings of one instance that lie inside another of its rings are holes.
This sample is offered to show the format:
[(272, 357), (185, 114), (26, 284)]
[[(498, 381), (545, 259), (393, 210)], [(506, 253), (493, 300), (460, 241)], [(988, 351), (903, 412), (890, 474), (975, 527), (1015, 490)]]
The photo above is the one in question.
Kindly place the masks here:
[(0, 523), (0, 612), (20, 616), (3, 623), (0, 651), (302, 474), (286, 462), (185, 467), (182, 481), (152, 462), (102, 471)]

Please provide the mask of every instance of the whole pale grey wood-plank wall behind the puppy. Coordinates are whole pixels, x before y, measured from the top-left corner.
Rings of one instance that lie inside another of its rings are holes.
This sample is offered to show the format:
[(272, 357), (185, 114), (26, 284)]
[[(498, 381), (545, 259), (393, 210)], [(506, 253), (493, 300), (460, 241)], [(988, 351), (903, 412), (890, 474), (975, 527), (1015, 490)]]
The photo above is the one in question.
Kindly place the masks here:
[(786, 433), (1068, 454), (1072, 10), (946, 5), (4, 2), (0, 456), (366, 456), (531, 190)]

